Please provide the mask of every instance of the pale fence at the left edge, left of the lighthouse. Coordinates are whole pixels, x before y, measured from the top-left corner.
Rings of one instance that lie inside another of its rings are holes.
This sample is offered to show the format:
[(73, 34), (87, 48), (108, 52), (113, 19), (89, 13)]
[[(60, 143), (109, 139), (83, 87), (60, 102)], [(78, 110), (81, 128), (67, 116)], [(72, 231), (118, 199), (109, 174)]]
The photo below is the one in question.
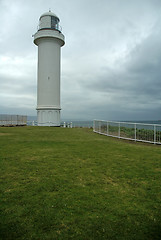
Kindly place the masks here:
[(27, 116), (0, 114), (0, 126), (27, 125)]

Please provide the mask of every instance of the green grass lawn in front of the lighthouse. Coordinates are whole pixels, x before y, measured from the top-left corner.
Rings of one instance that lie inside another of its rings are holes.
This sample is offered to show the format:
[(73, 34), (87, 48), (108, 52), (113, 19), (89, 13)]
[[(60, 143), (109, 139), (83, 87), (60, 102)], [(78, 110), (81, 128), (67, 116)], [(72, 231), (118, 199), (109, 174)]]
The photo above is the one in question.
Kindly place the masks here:
[(161, 146), (0, 128), (0, 239), (161, 239)]

